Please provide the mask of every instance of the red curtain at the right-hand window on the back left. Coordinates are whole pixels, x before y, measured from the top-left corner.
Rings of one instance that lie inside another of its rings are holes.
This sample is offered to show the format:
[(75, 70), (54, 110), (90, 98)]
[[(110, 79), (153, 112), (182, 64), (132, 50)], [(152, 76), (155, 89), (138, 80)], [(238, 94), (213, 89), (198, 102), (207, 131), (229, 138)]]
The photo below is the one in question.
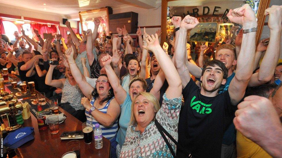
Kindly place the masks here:
[[(51, 27), (49, 27), (51, 26)], [(57, 28), (56, 25), (47, 25), (47, 24), (30, 24), (30, 28), (32, 30), (36, 29), (39, 31), (39, 34), (41, 35), (41, 37), (43, 38), (43, 33), (56, 33), (57, 32)], [(36, 37), (34, 31), (32, 31), (33, 33), (33, 37), (39, 41), (38, 37)]]

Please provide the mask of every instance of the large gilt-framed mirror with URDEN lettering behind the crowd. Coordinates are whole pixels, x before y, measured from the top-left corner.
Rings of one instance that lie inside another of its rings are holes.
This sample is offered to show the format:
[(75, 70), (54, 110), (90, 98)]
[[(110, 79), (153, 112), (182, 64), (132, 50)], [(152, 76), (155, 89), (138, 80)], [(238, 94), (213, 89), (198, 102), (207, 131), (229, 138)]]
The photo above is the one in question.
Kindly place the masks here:
[[(175, 36), (175, 27), (170, 18), (172, 16), (186, 15), (198, 18), (200, 24), (190, 31), (188, 42), (193, 45), (197, 53), (197, 45), (213, 45), (215, 48), (224, 39), (232, 39), (235, 45), (235, 35), (242, 28), (240, 24), (233, 24), (227, 18), (229, 9), (241, 7), (245, 3), (250, 4), (257, 16), (258, 31), (256, 44), (258, 44), (264, 26), (266, 16), (264, 10), (269, 6), (270, 0), (162, 0), (162, 37), (161, 42), (169, 43)], [(231, 42), (231, 43), (232, 43)], [(191, 48), (192, 50), (192, 48)], [(211, 51), (214, 51), (211, 49)]]

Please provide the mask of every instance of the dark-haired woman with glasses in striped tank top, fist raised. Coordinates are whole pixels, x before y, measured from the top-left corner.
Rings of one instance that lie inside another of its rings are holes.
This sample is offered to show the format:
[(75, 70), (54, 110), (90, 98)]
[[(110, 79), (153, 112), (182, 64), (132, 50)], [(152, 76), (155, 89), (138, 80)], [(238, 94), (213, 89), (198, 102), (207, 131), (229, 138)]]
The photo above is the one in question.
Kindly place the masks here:
[(111, 157), (116, 157), (116, 134), (120, 106), (114, 97), (113, 88), (105, 74), (101, 74), (96, 80), (95, 88), (92, 87), (80, 73), (77, 65), (70, 64), (75, 63), (73, 54), (72, 47), (65, 51), (73, 77), (86, 96), (81, 98), (81, 104), (86, 108), (86, 119), (92, 121), (93, 130), (96, 123), (100, 124), (103, 136), (111, 142)]

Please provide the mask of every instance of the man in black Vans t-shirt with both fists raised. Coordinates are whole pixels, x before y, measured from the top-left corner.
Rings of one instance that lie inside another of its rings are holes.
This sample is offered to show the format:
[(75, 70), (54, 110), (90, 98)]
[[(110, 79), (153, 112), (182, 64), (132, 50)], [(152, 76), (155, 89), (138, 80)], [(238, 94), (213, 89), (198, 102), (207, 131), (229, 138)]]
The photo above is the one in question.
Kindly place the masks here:
[[(234, 23), (242, 24), (243, 29), (257, 27), (256, 16), (249, 5), (230, 10), (227, 15)], [(235, 77), (229, 89), (218, 94), (219, 87), (226, 83), (228, 71), (225, 64), (212, 60), (203, 67), (202, 87), (191, 80), (186, 67), (187, 32), (196, 27), (198, 20), (186, 16), (173, 17), (174, 26), (180, 27), (175, 50), (175, 63), (182, 80), (184, 106), (181, 108), (178, 124), (177, 157), (220, 157), (223, 133), (234, 117), (237, 104), (245, 94), (248, 81), (252, 76), (255, 57), (255, 29), (243, 35), (242, 46), (238, 56)]]

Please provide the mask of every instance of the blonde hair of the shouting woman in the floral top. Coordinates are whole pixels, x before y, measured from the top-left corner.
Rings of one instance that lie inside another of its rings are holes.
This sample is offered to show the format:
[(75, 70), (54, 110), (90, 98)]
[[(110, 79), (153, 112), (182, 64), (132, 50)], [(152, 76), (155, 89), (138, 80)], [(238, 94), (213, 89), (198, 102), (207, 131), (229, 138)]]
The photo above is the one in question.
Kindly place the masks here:
[[(134, 103), (135, 103), (135, 100), (138, 96), (144, 96), (146, 99), (148, 99), (150, 102), (153, 103), (154, 105), (154, 108), (155, 108), (155, 111), (156, 113), (159, 111), (159, 109), (161, 108), (159, 106), (159, 101), (157, 100), (157, 98), (155, 96), (153, 96), (153, 94), (149, 93), (149, 92), (140, 92), (137, 96), (135, 96), (135, 98), (132, 100), (132, 104), (131, 104), (131, 117), (130, 117), (130, 124), (136, 124), (137, 121), (135, 119), (135, 116), (134, 116), (134, 111), (133, 111), (133, 107), (134, 107)], [(156, 118), (156, 115), (154, 116), (154, 119), (153, 121), (155, 121), (155, 118)]]

